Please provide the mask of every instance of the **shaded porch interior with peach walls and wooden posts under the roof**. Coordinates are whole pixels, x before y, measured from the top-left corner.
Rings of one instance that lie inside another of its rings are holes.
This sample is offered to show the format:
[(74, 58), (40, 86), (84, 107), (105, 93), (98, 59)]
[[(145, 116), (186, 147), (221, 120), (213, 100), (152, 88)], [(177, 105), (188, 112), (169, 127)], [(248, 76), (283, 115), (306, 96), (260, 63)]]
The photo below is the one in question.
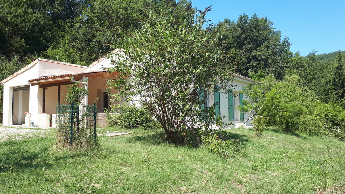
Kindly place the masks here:
[[(86, 105), (96, 104), (97, 107), (97, 123), (100, 126), (107, 125), (104, 113), (104, 109), (110, 110), (110, 105), (124, 104), (124, 101), (112, 102), (110, 100), (109, 93), (107, 91), (107, 80), (114, 79), (114, 75), (106, 71), (102, 72), (91, 72), (74, 75), (73, 80), (84, 82), (87, 80), (87, 88), (89, 89), (89, 95), (82, 99), (82, 103)], [(49, 79), (42, 79), (31, 83), (32, 86), (38, 85), (42, 88), (42, 102), (40, 103), (42, 108), (39, 114), (46, 114), (50, 116), (49, 123), (52, 127), (54, 119), (51, 117), (56, 114), (57, 105), (69, 105), (68, 101), (65, 100), (67, 95), (67, 86), (73, 84), (71, 76), (53, 77)], [(79, 87), (85, 87), (85, 84), (78, 83)], [(112, 89), (111, 94), (115, 94), (117, 91)], [(47, 120), (48, 121), (48, 120)], [(47, 126), (48, 127), (48, 126)]]

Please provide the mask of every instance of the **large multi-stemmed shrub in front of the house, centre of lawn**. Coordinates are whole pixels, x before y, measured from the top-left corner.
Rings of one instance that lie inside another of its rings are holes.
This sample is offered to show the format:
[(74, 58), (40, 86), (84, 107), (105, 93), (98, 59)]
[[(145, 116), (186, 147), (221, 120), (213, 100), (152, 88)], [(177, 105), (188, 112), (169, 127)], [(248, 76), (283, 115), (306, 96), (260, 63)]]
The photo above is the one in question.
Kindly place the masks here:
[(121, 50), (109, 55), (120, 59), (109, 69), (119, 73), (109, 82), (119, 91), (115, 99), (136, 101), (150, 110), (170, 143), (178, 142), (202, 118), (208, 119), (200, 127), (209, 128), (215, 111), (202, 108), (204, 89), (230, 90), (233, 65), (224, 62), (218, 30), (203, 27), (208, 11), (186, 10), (187, 19), (181, 22), (172, 8), (158, 14), (150, 10), (140, 29), (123, 32), (117, 45)]

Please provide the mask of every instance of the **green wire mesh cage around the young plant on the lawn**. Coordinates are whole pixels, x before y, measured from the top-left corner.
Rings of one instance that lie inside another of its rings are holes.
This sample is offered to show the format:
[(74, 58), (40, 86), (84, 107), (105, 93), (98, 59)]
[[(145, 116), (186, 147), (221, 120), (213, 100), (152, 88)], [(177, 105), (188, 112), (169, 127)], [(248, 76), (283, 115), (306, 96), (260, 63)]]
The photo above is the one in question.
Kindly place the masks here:
[(56, 113), (58, 146), (84, 149), (98, 145), (96, 105), (59, 105)]

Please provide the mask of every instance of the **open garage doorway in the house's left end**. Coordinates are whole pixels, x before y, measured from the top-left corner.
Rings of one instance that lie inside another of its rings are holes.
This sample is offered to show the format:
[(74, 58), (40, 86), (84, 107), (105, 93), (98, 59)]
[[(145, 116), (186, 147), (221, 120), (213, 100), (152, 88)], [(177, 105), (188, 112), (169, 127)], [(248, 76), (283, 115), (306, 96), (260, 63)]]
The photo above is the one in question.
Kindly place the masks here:
[(12, 95), (12, 125), (25, 123), (25, 113), (29, 112), (30, 86), (13, 87)]

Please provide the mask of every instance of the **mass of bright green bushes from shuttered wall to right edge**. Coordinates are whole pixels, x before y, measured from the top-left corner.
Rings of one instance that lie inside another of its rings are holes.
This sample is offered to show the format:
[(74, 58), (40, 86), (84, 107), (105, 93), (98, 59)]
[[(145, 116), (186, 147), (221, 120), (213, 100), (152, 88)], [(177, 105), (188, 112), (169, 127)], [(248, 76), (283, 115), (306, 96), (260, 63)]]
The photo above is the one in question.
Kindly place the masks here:
[(243, 110), (249, 118), (254, 118), (255, 132), (264, 125), (279, 127), (285, 132), (301, 131), (344, 140), (345, 110), (318, 100), (300, 84), (298, 76), (286, 76), (282, 81), (266, 76), (244, 87), (242, 92), (249, 96), (249, 100), (244, 100)]

